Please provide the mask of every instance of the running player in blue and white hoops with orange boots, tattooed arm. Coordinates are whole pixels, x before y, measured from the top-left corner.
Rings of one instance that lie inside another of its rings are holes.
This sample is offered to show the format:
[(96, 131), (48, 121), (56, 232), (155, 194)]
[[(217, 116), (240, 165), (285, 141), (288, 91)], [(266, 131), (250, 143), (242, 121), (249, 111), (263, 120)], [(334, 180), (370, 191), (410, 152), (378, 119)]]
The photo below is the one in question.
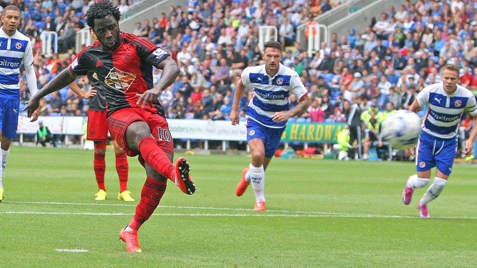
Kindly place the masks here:
[[(235, 90), (230, 120), (238, 125), (238, 102), (245, 87), (254, 87), (254, 97), (247, 107), (247, 141), (252, 151), (249, 168), (242, 171), (236, 195), (243, 195), (252, 182), (255, 192), (255, 211), (265, 210), (265, 170), (280, 144), (280, 139), (290, 117), (303, 113), (310, 102), (307, 90), (296, 71), (282, 65), (282, 47), (277, 41), (264, 44), (262, 57), (265, 64), (243, 70)], [(294, 93), (300, 100), (289, 109), (288, 97)]]

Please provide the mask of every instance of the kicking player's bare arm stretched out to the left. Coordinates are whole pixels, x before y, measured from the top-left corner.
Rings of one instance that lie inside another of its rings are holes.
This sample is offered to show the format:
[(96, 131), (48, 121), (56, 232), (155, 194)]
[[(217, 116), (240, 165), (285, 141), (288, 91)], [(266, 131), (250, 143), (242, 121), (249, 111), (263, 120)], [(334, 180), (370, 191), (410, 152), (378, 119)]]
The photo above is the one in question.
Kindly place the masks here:
[(33, 112), (38, 108), (41, 98), (68, 86), (76, 79), (76, 77), (77, 75), (71, 73), (70, 69), (61, 71), (55, 78), (53, 78), (53, 80), (48, 82), (48, 84), (35, 94), (33, 99), (27, 103), (27, 107), (23, 108), (23, 111), (28, 110), (28, 117), (31, 117)]

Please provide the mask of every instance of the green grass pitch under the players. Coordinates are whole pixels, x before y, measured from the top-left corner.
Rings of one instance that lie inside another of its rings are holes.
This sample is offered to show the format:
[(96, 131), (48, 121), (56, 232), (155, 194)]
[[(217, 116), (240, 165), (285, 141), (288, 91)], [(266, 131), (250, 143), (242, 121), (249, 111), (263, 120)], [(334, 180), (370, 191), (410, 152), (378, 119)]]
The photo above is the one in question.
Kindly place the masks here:
[[(176, 158), (181, 156), (176, 155)], [(267, 211), (252, 189), (235, 196), (243, 156), (186, 156), (198, 186), (172, 183), (139, 231), (143, 253), (126, 252), (119, 230), (135, 203), (117, 200), (108, 149), (108, 200), (97, 191), (92, 151), (12, 147), (0, 203), (0, 267), (472, 267), (477, 263), (476, 166), (454, 165), (433, 218), (418, 218), (418, 189), (401, 194), (411, 162), (274, 159), (266, 173)], [(146, 179), (129, 158), (129, 189)], [(58, 250), (84, 252), (58, 252)]]

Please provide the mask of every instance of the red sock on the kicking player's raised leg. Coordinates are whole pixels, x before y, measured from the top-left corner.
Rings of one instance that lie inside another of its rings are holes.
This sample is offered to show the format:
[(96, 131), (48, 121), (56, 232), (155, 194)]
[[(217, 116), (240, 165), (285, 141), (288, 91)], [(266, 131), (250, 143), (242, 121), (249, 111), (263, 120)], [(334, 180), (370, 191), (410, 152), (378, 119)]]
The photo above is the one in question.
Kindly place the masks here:
[(176, 168), (167, 158), (165, 152), (157, 145), (154, 138), (143, 138), (141, 142), (139, 142), (138, 148), (139, 152), (141, 152), (141, 156), (148, 165), (165, 178), (175, 181)]

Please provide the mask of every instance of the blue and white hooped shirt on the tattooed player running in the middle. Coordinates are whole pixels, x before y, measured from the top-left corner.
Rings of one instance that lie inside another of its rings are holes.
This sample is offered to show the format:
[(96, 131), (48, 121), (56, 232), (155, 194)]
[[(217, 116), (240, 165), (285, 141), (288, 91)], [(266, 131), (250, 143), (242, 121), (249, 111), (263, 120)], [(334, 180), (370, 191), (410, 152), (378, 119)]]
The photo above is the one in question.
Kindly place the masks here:
[(254, 88), (254, 97), (247, 107), (247, 118), (261, 125), (282, 128), (287, 122), (275, 123), (275, 112), (288, 111), (290, 91), (301, 99), (307, 90), (296, 71), (280, 63), (280, 69), (271, 77), (265, 71), (265, 64), (247, 67), (242, 71), (242, 83)]

